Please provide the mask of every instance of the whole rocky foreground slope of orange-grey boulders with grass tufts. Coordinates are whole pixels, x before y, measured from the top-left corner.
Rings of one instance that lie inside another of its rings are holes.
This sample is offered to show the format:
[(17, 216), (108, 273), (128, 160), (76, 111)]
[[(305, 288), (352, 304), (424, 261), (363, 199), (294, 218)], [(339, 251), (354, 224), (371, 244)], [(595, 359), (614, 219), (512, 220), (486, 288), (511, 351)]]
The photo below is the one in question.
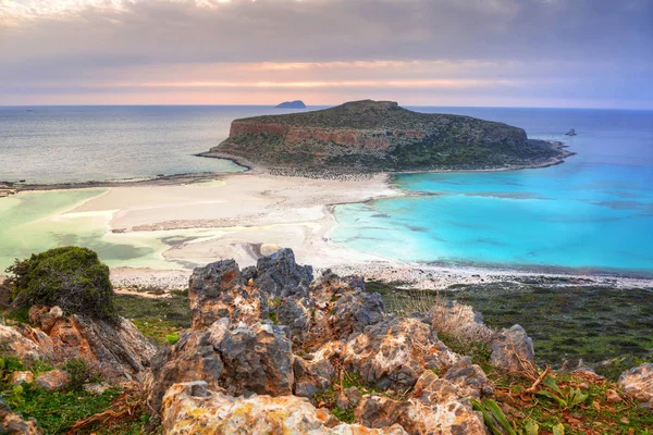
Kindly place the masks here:
[[(244, 269), (234, 260), (197, 268), (187, 303), (190, 327), (170, 344), (153, 344), (124, 318), (70, 315), (59, 307), (32, 306), (24, 321), (7, 320), (2, 389), (23, 386), (4, 396), (0, 432), (40, 433), (46, 417), (25, 403), (54, 394), (46, 391), (69, 394), (76, 372), (66, 361), (81, 359), (102, 378), (83, 380), (85, 391), (122, 394), (107, 396), (115, 397), (107, 409), (69, 421), (66, 433), (136, 433), (121, 428), (125, 422), (164, 434), (653, 427), (651, 364), (625, 372), (618, 384), (578, 361), (542, 370), (519, 325), (491, 330), (455, 302), (393, 314), (361, 277), (324, 271), (316, 278), (289, 249)], [(5, 363), (12, 358), (22, 370)], [(86, 393), (74, 394), (86, 400)]]

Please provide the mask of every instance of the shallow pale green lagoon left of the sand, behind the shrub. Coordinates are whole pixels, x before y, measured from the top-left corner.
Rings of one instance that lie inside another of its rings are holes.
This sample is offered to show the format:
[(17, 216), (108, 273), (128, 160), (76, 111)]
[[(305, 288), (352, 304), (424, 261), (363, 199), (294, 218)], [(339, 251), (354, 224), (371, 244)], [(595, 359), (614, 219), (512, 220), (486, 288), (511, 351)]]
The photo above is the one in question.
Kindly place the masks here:
[(0, 274), (16, 258), (67, 245), (97, 251), (110, 266), (183, 269), (162, 253), (177, 240), (215, 235), (211, 229), (112, 233), (111, 212), (65, 213), (107, 189), (26, 191), (0, 199)]

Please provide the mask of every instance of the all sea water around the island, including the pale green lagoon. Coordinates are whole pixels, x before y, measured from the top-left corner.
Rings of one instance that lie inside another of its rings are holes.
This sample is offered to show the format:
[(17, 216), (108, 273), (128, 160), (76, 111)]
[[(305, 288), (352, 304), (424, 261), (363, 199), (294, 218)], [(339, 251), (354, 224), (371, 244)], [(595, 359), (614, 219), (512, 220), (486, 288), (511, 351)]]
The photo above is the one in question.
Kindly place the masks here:
[[(396, 187), (423, 195), (336, 207), (332, 241), (406, 262), (653, 276), (653, 111), (408, 109), (504, 122), (531, 138), (563, 141), (576, 156), (544, 169), (396, 175)], [(287, 112), (251, 105), (0, 107), (0, 182), (243, 171), (195, 154), (225, 139), (234, 119)], [(570, 128), (578, 135), (566, 136)], [(1, 198), (0, 268), (67, 244), (98, 250), (110, 265), (170, 268), (161, 252), (188, 234), (126, 243), (112, 240), (97, 216), (51, 219), (103, 191)]]

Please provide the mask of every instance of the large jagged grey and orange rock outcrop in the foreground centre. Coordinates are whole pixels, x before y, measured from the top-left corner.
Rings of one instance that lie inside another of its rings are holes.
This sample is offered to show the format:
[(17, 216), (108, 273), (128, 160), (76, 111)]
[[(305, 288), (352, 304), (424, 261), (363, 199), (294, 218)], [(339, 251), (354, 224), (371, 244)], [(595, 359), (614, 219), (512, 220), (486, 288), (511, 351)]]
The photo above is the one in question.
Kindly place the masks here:
[[(385, 314), (360, 278), (326, 271), (311, 281), (291, 250), (242, 271), (232, 260), (194, 271), (193, 328), (157, 355), (146, 382), (167, 433), (483, 433), (468, 398), (493, 385), (428, 316)], [(341, 391), (337, 402), (361, 425), (309, 401), (345, 376), (386, 391)]]

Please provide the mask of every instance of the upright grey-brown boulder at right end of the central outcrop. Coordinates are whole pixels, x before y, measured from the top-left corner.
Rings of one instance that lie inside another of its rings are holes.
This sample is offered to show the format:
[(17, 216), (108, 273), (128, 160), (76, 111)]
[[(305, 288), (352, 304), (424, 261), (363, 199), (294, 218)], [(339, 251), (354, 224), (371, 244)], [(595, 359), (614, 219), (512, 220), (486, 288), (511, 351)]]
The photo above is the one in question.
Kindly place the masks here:
[(490, 364), (508, 373), (535, 373), (533, 340), (520, 325), (501, 330), (492, 341)]

